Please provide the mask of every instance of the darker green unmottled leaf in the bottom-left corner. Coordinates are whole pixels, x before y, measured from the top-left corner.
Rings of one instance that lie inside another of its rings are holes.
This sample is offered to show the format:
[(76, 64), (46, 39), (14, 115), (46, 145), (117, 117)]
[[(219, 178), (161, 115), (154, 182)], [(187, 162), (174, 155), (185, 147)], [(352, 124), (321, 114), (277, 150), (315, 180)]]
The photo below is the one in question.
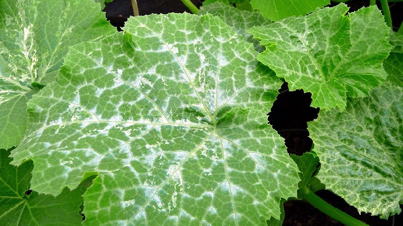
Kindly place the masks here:
[(10, 165), (10, 150), (0, 149), (1, 225), (79, 225), (83, 191), (64, 189), (60, 195), (25, 194), (31, 180), (32, 161)]

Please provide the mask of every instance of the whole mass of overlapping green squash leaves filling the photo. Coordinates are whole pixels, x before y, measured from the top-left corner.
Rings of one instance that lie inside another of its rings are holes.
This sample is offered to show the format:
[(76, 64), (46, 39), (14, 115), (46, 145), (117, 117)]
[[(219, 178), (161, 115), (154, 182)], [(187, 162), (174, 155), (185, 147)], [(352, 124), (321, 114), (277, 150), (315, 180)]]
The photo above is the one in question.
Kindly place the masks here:
[[(324, 185), (400, 212), (403, 38), (375, 7), (305, 16), (325, 2), (206, 1), (117, 33), (105, 1), (1, 1), (0, 148), (18, 147), (0, 224), (77, 225), (84, 206), (88, 225), (281, 225)], [(301, 157), (266, 125), (281, 79), (322, 108)]]

